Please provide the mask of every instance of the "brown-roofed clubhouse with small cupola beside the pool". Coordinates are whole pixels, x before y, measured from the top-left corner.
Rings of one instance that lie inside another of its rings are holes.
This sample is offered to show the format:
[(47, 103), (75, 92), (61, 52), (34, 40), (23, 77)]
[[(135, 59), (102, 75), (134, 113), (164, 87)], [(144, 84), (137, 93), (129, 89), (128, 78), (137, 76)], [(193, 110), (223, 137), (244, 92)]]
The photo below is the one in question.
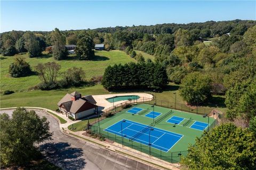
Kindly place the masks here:
[(62, 114), (66, 114), (67, 117), (71, 116), (75, 120), (91, 116), (98, 111), (96, 101), (91, 95), (82, 97), (82, 94), (76, 91), (71, 94), (67, 93), (58, 102), (58, 107)]

